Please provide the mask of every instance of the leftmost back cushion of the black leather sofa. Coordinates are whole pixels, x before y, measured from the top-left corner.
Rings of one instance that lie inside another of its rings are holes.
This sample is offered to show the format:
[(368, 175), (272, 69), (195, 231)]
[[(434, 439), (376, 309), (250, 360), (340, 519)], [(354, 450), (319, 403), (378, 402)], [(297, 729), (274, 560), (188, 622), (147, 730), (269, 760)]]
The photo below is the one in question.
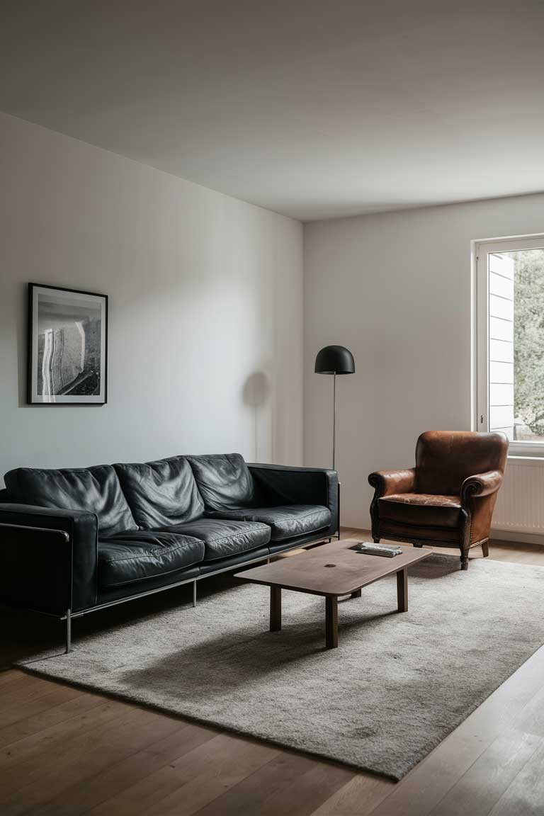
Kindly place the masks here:
[(4, 481), (15, 502), (95, 512), (101, 538), (138, 529), (109, 464), (65, 470), (16, 468), (6, 473)]

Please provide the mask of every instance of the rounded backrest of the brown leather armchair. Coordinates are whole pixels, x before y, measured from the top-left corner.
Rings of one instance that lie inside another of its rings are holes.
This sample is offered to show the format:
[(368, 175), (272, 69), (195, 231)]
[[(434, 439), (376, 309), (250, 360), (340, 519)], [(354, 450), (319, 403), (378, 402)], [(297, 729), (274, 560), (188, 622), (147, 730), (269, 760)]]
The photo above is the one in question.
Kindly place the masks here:
[(504, 472), (507, 453), (503, 433), (426, 431), (416, 446), (416, 490), (458, 495), (467, 477)]

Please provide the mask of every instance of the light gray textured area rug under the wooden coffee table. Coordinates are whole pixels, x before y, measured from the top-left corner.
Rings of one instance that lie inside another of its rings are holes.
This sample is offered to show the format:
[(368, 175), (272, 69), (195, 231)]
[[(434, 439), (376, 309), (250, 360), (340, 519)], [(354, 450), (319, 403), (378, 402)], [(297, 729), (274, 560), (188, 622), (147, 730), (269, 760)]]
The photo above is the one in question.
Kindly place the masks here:
[(458, 564), (414, 565), (405, 614), (394, 576), (341, 601), (337, 650), (323, 598), (284, 592), (271, 633), (268, 588), (231, 580), (27, 670), (399, 779), (544, 641), (544, 568)]

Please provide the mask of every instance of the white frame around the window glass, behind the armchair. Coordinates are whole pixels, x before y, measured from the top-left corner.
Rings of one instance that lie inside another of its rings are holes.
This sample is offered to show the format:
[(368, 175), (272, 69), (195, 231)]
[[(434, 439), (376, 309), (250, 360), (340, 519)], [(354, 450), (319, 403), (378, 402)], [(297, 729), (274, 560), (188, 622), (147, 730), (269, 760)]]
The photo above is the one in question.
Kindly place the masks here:
[[(475, 354), (474, 384), (476, 431), (489, 430), (489, 253), (544, 249), (544, 235), (498, 238), (474, 244)], [(509, 455), (544, 458), (544, 442), (511, 441)]]

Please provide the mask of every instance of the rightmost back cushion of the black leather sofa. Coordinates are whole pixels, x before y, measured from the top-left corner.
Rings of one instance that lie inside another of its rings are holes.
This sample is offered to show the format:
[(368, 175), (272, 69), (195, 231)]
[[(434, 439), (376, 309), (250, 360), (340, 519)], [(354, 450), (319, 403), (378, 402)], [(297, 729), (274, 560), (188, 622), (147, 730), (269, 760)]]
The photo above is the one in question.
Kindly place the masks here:
[(255, 486), (240, 454), (188, 456), (206, 510), (252, 507)]

